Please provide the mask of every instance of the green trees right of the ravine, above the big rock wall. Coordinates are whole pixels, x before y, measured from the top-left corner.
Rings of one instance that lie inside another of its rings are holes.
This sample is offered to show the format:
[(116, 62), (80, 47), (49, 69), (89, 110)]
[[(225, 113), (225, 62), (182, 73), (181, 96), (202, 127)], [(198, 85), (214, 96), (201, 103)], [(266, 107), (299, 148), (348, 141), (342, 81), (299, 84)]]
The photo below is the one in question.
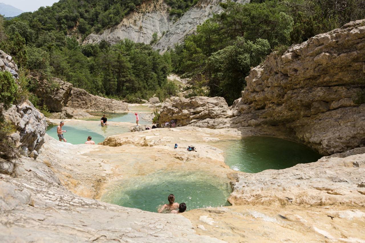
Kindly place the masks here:
[[(232, 104), (250, 67), (272, 51), (365, 18), (364, 0), (252, 0), (221, 3), (224, 12), (170, 50), (173, 72), (204, 82)], [(205, 94), (205, 93), (204, 93)]]

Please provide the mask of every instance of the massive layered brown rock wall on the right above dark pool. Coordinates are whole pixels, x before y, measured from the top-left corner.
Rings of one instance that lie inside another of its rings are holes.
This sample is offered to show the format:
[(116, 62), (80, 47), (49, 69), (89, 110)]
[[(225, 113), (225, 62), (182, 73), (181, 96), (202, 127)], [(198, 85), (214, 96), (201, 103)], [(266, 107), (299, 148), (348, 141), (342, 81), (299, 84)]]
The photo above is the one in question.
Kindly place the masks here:
[(323, 154), (365, 144), (365, 20), (270, 54), (246, 82), (237, 127), (282, 124)]

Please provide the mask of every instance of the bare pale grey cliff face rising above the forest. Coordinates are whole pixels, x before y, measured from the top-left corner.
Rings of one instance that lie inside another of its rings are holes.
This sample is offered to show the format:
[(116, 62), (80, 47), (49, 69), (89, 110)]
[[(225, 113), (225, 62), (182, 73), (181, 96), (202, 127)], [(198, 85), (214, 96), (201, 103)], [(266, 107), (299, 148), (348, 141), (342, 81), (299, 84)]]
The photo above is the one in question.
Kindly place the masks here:
[[(200, 0), (191, 7), (176, 22), (170, 16), (170, 7), (163, 1), (145, 1), (135, 11), (124, 17), (115, 27), (105, 30), (102, 34), (90, 34), (87, 43), (98, 43), (107, 40), (116, 43), (124, 38), (138, 43), (149, 44), (152, 35), (157, 33), (159, 40), (153, 45), (154, 49), (165, 51), (175, 43), (181, 42), (184, 36), (195, 31), (196, 26), (210, 18), (213, 13), (222, 12), (219, 3), (222, 0)], [(238, 0), (247, 3), (249, 0)]]

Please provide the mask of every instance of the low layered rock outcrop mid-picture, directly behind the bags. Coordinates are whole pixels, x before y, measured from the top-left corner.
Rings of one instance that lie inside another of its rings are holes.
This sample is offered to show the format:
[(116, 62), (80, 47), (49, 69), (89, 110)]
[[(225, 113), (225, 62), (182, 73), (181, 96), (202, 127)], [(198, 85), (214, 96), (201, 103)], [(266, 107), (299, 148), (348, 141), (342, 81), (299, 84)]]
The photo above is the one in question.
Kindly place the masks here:
[[(159, 122), (162, 124), (176, 119), (177, 126), (185, 126), (198, 122), (205, 123), (205, 119), (219, 119), (231, 116), (232, 112), (228, 108), (226, 100), (222, 97), (196, 96), (188, 99), (173, 97), (162, 104)], [(215, 123), (213, 120), (207, 120), (206, 123), (209, 124), (210, 121)], [(224, 124), (227, 124), (227, 122), (225, 121)], [(224, 128), (224, 126), (221, 128)], [(205, 127), (210, 126), (206, 125)]]

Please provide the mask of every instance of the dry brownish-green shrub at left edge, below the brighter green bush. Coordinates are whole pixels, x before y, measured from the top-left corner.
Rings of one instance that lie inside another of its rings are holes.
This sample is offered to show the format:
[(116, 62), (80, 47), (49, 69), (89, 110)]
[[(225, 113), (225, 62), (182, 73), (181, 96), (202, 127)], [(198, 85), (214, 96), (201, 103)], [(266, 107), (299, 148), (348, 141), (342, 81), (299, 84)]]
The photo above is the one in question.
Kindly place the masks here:
[(15, 143), (9, 138), (9, 135), (15, 131), (10, 121), (0, 117), (0, 158), (11, 159), (19, 153), (15, 148)]

